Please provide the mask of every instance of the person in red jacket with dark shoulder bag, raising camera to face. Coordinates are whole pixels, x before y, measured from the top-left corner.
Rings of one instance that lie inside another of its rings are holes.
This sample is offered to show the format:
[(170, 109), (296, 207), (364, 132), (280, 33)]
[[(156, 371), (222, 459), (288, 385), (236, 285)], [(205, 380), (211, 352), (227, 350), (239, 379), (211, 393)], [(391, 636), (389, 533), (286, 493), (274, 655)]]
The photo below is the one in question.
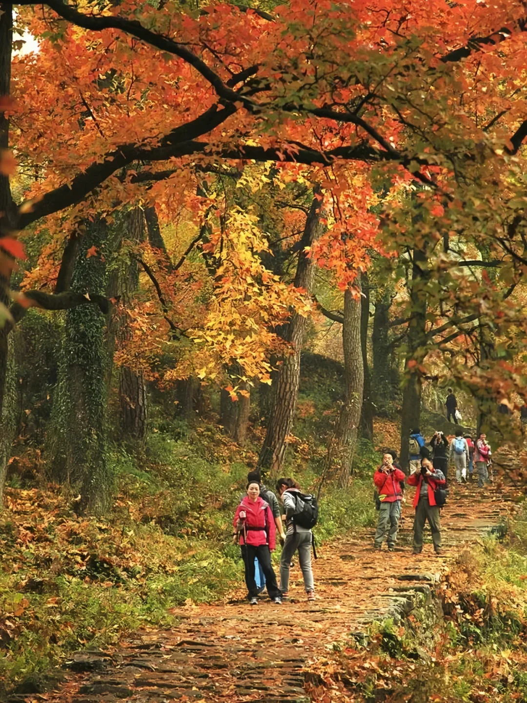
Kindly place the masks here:
[(434, 491), (439, 486), (446, 484), (445, 477), (439, 469), (434, 469), (429, 459), (422, 459), (420, 472), (409, 476), (408, 484), (417, 486), (413, 498), (413, 507), (415, 508), (413, 553), (420, 554), (422, 552), (422, 532), (425, 529), (425, 522), (428, 520), (430, 531), (432, 531), (434, 552), (441, 554), (441, 523), (439, 522), (439, 507), (436, 505)]

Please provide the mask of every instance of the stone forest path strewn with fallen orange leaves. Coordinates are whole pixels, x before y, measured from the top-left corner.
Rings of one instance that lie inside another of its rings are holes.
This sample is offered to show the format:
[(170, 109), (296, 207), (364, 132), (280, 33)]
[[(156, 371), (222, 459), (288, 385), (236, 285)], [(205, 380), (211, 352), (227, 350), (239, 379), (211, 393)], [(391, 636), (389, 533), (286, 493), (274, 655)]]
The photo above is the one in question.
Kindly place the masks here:
[[(413, 494), (413, 490), (408, 491)], [(427, 541), (411, 553), (413, 508), (403, 509), (403, 529), (393, 553), (373, 551), (373, 529), (359, 531), (319, 549), (314, 562), (317, 600), (308, 603), (298, 560), (291, 572), (291, 600), (274, 605), (267, 596), (251, 607), (238, 600), (175, 609), (172, 631), (138, 631), (112, 655), (79, 654), (78, 669), (48, 702), (140, 703), (178, 701), (309, 703), (304, 684), (309, 659), (334, 642), (363, 631), (375, 620), (408, 612), (416, 591), (440, 579), (467, 543), (499, 524), (510, 507), (510, 491), (476, 482), (452, 486), (441, 515), (443, 555)], [(416, 585), (416, 582), (419, 582)], [(22, 701), (27, 697), (13, 697)]]

